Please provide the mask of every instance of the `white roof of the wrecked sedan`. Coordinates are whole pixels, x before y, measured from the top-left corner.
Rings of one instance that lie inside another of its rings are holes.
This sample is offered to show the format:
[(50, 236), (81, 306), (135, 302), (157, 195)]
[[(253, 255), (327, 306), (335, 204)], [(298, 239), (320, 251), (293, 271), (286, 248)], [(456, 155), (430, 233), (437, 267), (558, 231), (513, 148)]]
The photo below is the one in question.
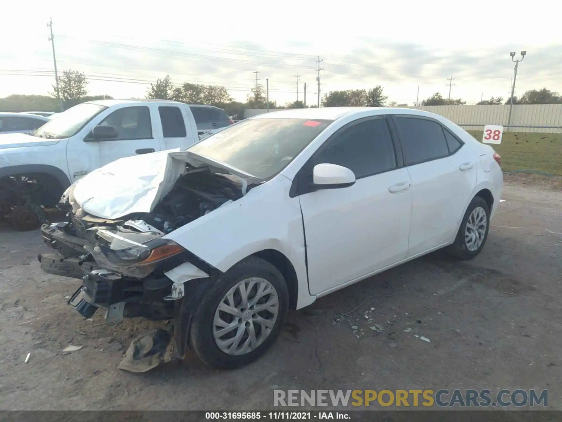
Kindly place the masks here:
[(365, 114), (371, 111), (371, 115), (377, 114), (413, 114), (423, 116), (436, 116), (433, 113), (416, 109), (402, 109), (398, 107), (314, 107), (310, 109), (288, 109), (270, 111), (252, 116), (250, 119), (319, 119), (337, 120), (343, 116), (354, 114)]

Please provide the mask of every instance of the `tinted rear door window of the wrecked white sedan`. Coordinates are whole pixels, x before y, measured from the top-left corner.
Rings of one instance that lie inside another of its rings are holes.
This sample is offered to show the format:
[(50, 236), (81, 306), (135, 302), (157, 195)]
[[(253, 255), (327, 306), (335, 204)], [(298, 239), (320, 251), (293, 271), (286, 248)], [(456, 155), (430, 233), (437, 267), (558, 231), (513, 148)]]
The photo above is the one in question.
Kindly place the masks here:
[(396, 121), (405, 165), (423, 163), (449, 155), (445, 134), (439, 123), (400, 116)]

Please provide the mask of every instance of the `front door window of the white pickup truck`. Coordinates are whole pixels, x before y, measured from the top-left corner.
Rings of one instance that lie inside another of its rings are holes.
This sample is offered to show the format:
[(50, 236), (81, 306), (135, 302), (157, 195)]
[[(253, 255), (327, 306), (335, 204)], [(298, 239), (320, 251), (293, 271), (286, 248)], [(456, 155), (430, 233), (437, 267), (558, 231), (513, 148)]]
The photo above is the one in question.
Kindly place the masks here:
[(112, 126), (118, 136), (113, 141), (152, 138), (150, 110), (147, 106), (123, 107), (108, 115), (99, 125)]

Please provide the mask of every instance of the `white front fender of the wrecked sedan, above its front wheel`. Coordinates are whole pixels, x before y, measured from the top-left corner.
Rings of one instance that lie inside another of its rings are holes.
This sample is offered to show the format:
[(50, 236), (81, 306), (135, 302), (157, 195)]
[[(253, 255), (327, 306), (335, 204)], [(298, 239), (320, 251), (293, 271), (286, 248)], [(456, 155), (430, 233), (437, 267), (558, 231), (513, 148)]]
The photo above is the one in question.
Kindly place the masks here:
[(314, 297), (307, 288), (300, 204), (298, 197), (289, 197), (290, 187), (291, 181), (278, 175), (241, 199), (174, 230), (165, 239), (182, 245), (222, 272), (261, 250), (277, 250), (297, 274), (297, 309), (307, 306)]

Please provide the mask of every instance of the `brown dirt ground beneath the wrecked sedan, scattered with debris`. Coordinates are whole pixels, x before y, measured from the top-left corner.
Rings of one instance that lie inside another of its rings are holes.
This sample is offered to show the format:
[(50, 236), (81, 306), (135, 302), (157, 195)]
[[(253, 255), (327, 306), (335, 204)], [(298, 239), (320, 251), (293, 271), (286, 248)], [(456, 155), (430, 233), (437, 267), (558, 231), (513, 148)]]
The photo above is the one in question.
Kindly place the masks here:
[[(289, 312), (274, 347), (235, 371), (191, 356), (116, 369), (149, 322), (84, 320), (66, 305), (80, 282), (40, 270), (39, 232), (0, 229), (0, 409), (265, 410), (273, 389), (536, 388), (561, 410), (562, 191), (505, 185), (476, 259), (431, 254)], [(62, 353), (69, 344), (84, 348)]]

